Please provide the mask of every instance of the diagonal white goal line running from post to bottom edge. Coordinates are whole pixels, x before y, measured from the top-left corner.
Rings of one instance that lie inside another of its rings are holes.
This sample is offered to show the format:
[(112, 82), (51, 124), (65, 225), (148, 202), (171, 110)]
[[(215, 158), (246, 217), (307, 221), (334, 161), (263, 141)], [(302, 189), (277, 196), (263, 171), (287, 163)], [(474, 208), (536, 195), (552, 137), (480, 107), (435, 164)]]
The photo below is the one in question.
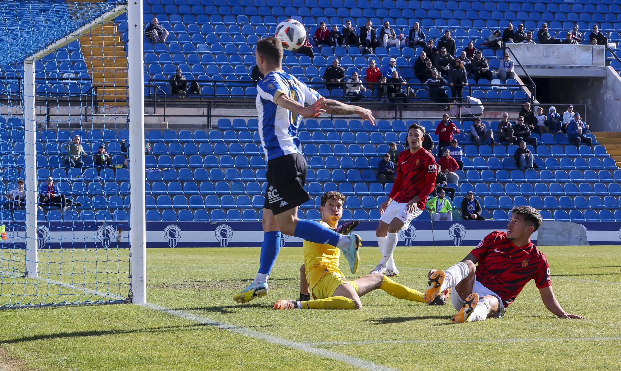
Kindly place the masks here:
[(291, 340), (282, 339), (278, 336), (273, 336), (271, 334), (260, 333), (259, 331), (251, 330), (244, 327), (234, 326), (232, 324), (223, 323), (220, 321), (210, 320), (209, 318), (194, 315), (193, 313), (188, 313), (186, 311), (174, 310), (171, 308), (165, 308), (163, 306), (146, 303), (142, 304), (145, 308), (158, 310), (163, 313), (167, 313), (169, 315), (178, 316), (180, 318), (184, 318), (186, 320), (190, 320), (193, 322), (206, 324), (207, 326), (214, 326), (215, 328), (224, 329), (230, 331), (232, 333), (240, 334), (243, 336), (253, 337), (255, 339), (263, 340), (266, 342), (271, 342), (272, 344), (278, 344), (281, 346), (290, 347), (293, 349), (297, 349), (299, 351), (321, 355), (322, 357), (330, 358), (333, 360), (338, 360), (339, 362), (343, 362), (345, 364), (359, 367), (360, 369), (366, 370), (386, 370), (386, 371), (396, 371), (397, 369), (392, 369), (391, 367), (387, 367), (384, 365), (378, 365), (368, 360), (363, 360), (358, 357), (353, 357), (351, 355), (340, 354), (332, 351), (328, 351), (326, 349), (313, 347), (309, 344), (305, 344), (303, 342), (296, 342)]

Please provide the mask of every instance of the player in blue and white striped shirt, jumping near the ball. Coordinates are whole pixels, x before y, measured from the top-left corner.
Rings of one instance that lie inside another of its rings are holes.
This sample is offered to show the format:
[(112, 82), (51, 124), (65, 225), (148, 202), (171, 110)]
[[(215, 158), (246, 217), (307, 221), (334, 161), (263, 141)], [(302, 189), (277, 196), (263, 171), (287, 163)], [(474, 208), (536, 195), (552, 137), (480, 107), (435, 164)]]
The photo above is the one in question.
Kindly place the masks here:
[[(374, 125), (372, 112), (357, 105), (324, 99), (306, 84), (283, 71), (283, 46), (278, 38), (266, 37), (256, 43), (256, 65), (265, 75), (256, 86), (256, 109), (261, 146), (267, 158), (268, 189), (263, 205), (263, 244), (255, 280), (233, 297), (238, 303), (268, 294), (268, 275), (280, 249), (281, 233), (315, 243), (328, 243), (343, 251), (355, 264), (360, 237), (340, 235), (312, 220), (299, 220), (297, 207), (311, 199), (304, 190), (307, 164), (299, 150), (297, 128), (302, 117), (322, 113), (359, 115)], [(307, 106), (308, 105), (308, 106)]]

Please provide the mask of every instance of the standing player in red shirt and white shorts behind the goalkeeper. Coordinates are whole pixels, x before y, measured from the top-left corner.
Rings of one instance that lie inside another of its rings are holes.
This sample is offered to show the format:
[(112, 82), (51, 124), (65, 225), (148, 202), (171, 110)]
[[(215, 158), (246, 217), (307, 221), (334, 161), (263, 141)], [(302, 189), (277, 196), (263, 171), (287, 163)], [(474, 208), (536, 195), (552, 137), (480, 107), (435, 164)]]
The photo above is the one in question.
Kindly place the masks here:
[(397, 233), (406, 230), (410, 222), (425, 209), (427, 196), (433, 191), (437, 175), (433, 154), (422, 148), (425, 128), (413, 123), (407, 130), (409, 148), (399, 153), (397, 179), (392, 185), (388, 200), (379, 207), (379, 251), (383, 258), (371, 273), (398, 276), (392, 253), (397, 246)]

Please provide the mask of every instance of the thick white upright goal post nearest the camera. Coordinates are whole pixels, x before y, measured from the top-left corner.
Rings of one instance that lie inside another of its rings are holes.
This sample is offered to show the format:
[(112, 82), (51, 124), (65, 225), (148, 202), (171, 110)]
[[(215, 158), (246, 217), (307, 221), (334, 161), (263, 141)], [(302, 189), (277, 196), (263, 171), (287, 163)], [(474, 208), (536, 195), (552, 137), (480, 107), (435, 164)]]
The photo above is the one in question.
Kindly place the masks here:
[(147, 236), (145, 221), (145, 102), (142, 46), (142, 0), (127, 4), (129, 94), (129, 243), (132, 303), (147, 302)]

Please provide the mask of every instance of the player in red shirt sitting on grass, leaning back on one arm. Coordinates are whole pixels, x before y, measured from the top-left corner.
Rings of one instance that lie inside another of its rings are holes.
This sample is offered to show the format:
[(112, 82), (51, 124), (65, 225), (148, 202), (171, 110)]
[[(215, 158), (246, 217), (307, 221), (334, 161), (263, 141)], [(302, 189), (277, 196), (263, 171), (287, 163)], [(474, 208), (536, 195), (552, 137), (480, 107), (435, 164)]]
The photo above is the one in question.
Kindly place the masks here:
[[(425, 302), (430, 303), (446, 288), (455, 287), (451, 300), (459, 313), (452, 321), (483, 321), (488, 316), (504, 315), (527, 282), (535, 280), (549, 311), (561, 318), (584, 318), (570, 315), (556, 301), (548, 260), (530, 242), (530, 235), (542, 221), (535, 208), (514, 208), (507, 233), (490, 233), (461, 262), (446, 271), (430, 270)], [(475, 266), (476, 263), (479, 265)]]

